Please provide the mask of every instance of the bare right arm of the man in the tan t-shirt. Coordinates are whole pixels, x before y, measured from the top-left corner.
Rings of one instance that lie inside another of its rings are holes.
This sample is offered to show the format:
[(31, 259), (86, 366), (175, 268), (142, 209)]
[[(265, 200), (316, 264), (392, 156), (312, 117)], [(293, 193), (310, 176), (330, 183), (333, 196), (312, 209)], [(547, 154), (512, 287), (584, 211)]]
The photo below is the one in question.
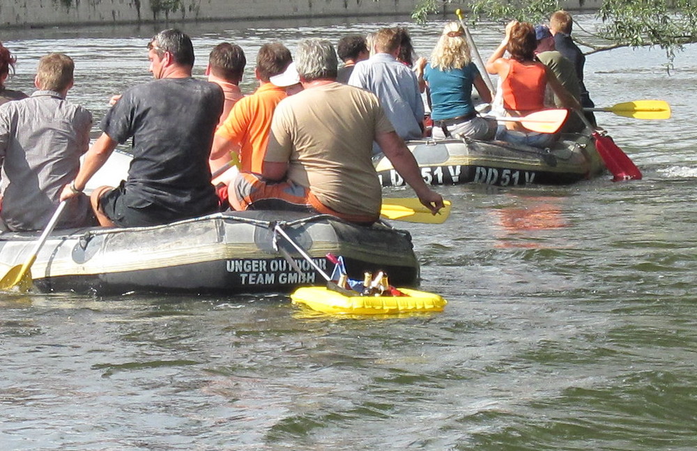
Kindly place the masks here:
[(397, 135), (397, 132), (383, 132), (375, 137), (380, 144), (385, 156), (392, 162), (392, 167), (404, 178), (404, 181), (416, 192), (424, 206), (431, 212), (438, 213), (443, 208), (443, 197), (424, 182), (421, 171), (414, 159), (414, 155), (406, 148), (404, 141)]

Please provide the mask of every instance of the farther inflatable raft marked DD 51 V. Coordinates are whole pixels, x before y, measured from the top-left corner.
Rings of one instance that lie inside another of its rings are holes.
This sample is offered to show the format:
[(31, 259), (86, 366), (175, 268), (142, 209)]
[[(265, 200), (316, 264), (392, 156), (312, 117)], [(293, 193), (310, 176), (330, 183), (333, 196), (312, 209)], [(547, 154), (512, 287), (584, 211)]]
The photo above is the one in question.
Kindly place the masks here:
[[(431, 185), (562, 185), (599, 176), (605, 170), (592, 138), (583, 134), (562, 135), (549, 149), (472, 139), (407, 144), (424, 181)], [(404, 185), (387, 158), (378, 157), (375, 168), (383, 186)]]

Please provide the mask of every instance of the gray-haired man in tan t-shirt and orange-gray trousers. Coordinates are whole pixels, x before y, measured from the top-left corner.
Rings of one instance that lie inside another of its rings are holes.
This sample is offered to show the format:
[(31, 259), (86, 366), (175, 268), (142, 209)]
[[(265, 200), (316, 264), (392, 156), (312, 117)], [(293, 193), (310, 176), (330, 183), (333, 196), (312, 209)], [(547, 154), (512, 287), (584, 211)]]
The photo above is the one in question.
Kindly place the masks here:
[(375, 222), (382, 190), (371, 159), (374, 140), (424, 206), (434, 214), (443, 207), (378, 98), (336, 82), (337, 55), (329, 41), (301, 41), (296, 69), (305, 89), (278, 104), (262, 174), (240, 173), (229, 192), (233, 208), (285, 208)]

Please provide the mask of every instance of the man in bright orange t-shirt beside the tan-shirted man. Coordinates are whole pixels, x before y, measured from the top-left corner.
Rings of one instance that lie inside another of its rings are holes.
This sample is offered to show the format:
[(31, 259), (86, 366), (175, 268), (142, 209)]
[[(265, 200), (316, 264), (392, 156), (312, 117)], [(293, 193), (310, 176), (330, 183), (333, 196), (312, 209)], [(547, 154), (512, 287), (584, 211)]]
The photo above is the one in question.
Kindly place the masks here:
[[(282, 44), (261, 46), (254, 69), (259, 88), (252, 95), (238, 100), (215, 132), (210, 161), (215, 161), (217, 167), (211, 167), (211, 171), (233, 160), (232, 153), (235, 153), (240, 170), (261, 173), (273, 112), (278, 102), (286, 98), (286, 90), (275, 86), (269, 79), (283, 73), (292, 61), (291, 52)], [(226, 155), (229, 157), (227, 161), (224, 159)], [(225, 174), (220, 181), (227, 184)]]

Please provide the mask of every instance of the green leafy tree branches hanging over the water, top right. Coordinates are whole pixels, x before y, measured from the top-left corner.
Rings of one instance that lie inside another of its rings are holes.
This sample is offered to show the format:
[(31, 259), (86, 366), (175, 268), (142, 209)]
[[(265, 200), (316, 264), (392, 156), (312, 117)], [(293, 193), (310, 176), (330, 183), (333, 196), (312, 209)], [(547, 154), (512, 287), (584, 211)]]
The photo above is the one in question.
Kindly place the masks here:
[[(412, 17), (424, 22), (429, 14), (444, 13), (449, 4), (449, 10), (459, 6), (454, 0), (422, 0)], [(547, 22), (551, 13), (562, 8), (556, 0), (473, 0), (465, 6), (472, 24), (514, 19), (536, 24)], [(574, 26), (574, 39), (590, 49), (587, 54), (657, 46), (672, 61), (675, 51), (697, 42), (697, 0), (604, 0), (597, 17), (602, 25), (593, 33)]]

